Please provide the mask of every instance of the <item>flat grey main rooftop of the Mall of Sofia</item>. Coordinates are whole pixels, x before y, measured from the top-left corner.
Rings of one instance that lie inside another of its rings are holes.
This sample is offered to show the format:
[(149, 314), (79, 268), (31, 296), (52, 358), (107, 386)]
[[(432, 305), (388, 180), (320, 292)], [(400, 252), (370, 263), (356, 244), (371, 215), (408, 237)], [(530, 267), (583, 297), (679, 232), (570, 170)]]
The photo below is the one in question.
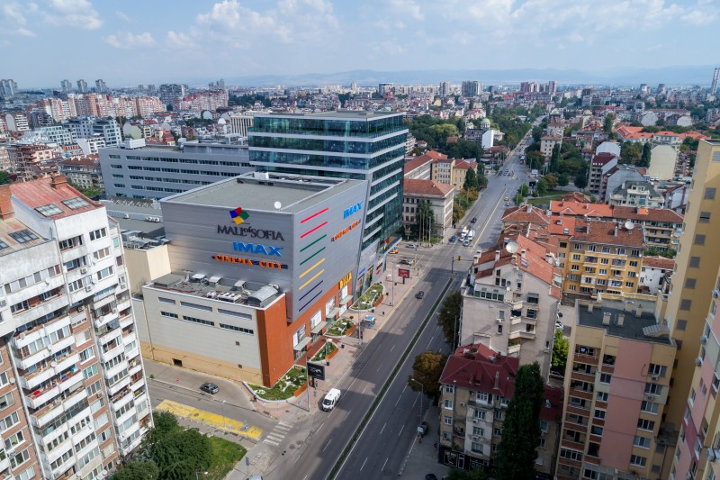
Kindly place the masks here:
[(309, 177), (272, 172), (248, 172), (209, 186), (168, 196), (165, 202), (220, 206), (254, 211), (297, 213), (328, 198), (342, 195), (365, 180)]

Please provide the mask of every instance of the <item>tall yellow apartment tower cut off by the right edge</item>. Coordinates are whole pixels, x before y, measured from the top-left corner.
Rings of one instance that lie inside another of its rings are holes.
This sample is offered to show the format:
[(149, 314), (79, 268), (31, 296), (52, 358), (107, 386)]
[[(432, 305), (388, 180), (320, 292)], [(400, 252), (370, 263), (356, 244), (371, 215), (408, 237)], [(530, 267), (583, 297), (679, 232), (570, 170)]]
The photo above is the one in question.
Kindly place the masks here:
[[(685, 414), (692, 389), (696, 389), (698, 394), (698, 384), (693, 383), (698, 378), (690, 375), (690, 372), (696, 370), (696, 360), (702, 349), (707, 351), (707, 346), (698, 344), (698, 339), (704, 336), (708, 323), (711, 326), (713, 323), (708, 312), (715, 304), (715, 298), (708, 293), (716, 289), (720, 267), (720, 249), (716, 248), (720, 244), (720, 229), (713, 226), (713, 222), (720, 218), (720, 202), (716, 199), (717, 191), (720, 190), (720, 161), (717, 158), (720, 158), (720, 141), (700, 140), (684, 233), (680, 237), (680, 248), (675, 258), (678, 267), (672, 276), (664, 316), (671, 336), (679, 347), (677, 367), (673, 370), (671, 402), (666, 412), (666, 428), (680, 432), (685, 427), (686, 438), (689, 419), (685, 418)], [(703, 376), (707, 374), (707, 369), (715, 368), (710, 361), (701, 362), (701, 367)], [(692, 415), (692, 425), (701, 427), (699, 413), (693, 410)], [(695, 433), (690, 436), (695, 437)], [(680, 447), (684, 441), (680, 441)], [(675, 464), (676, 467), (679, 465), (677, 462)], [(687, 460), (683, 460), (685, 464)], [(663, 470), (663, 475), (667, 478), (669, 469)]]

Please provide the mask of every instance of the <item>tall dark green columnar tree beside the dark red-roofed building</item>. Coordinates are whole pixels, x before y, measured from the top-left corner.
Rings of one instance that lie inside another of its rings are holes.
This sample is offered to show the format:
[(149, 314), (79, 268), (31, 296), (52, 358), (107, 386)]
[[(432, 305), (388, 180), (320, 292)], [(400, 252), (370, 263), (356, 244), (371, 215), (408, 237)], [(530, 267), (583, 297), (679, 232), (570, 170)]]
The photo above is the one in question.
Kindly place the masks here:
[(515, 392), (502, 422), (502, 437), (495, 455), (495, 478), (532, 480), (540, 445), (540, 410), (545, 386), (537, 362), (518, 368)]

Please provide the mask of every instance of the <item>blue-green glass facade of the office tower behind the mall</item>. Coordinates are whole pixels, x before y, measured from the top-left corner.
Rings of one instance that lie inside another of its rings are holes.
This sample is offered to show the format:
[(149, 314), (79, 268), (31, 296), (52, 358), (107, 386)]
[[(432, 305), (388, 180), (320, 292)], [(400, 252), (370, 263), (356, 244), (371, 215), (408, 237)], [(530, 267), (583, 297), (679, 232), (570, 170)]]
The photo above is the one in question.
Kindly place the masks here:
[(363, 249), (379, 249), (402, 224), (402, 113), (257, 115), (248, 131), (250, 163), (268, 171), (370, 182)]

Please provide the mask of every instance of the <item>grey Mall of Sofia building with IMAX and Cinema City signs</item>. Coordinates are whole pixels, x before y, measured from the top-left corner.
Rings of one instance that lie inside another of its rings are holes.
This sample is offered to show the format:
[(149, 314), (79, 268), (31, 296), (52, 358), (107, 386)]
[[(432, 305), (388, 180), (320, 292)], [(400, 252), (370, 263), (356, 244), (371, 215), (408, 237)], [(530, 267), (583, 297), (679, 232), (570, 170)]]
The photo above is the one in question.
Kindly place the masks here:
[(352, 302), (367, 188), (255, 172), (163, 199), (166, 240), (125, 239), (143, 355), (274, 385)]

